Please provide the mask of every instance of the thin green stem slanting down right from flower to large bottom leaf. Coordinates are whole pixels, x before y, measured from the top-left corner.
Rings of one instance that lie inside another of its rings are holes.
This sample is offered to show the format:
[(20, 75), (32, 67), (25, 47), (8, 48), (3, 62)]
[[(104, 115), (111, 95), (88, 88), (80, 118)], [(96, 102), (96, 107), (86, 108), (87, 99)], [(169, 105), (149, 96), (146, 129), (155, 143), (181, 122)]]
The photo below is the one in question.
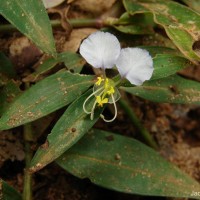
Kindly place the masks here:
[(158, 149), (157, 143), (153, 140), (152, 136), (150, 133), (142, 126), (141, 122), (135, 115), (135, 113), (132, 111), (132, 109), (129, 106), (129, 103), (123, 99), (119, 100), (120, 106), (124, 109), (126, 114), (129, 116), (130, 120), (132, 123), (135, 125), (135, 127), (138, 129), (138, 131), (141, 133), (143, 139), (145, 142), (152, 148)]

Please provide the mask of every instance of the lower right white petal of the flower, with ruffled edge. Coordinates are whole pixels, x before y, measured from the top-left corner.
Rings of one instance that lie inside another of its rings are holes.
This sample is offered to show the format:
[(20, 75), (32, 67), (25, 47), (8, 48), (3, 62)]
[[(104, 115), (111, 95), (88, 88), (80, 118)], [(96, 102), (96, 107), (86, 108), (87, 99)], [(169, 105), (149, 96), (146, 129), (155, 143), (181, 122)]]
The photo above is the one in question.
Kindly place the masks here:
[(153, 60), (149, 52), (140, 48), (125, 48), (117, 59), (116, 66), (122, 77), (134, 85), (141, 85), (153, 74)]

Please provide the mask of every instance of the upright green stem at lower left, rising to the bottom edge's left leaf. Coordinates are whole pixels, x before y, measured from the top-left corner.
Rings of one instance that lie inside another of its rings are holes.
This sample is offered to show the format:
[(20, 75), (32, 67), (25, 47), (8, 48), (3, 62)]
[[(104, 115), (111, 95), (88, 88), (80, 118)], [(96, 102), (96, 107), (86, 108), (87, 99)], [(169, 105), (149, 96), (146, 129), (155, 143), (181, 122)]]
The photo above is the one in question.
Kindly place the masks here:
[(32, 141), (31, 124), (24, 125), (24, 140), (25, 140), (25, 170), (24, 170), (24, 188), (23, 200), (32, 200), (32, 175), (28, 171), (32, 159), (32, 151), (30, 141)]

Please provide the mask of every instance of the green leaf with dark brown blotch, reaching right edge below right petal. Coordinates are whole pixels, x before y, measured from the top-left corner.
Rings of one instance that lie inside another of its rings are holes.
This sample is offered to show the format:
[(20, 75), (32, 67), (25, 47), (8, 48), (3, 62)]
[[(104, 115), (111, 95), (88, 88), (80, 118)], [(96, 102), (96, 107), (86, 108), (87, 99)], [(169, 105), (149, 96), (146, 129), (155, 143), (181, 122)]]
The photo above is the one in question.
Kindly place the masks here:
[(154, 102), (200, 104), (200, 83), (178, 75), (121, 89)]

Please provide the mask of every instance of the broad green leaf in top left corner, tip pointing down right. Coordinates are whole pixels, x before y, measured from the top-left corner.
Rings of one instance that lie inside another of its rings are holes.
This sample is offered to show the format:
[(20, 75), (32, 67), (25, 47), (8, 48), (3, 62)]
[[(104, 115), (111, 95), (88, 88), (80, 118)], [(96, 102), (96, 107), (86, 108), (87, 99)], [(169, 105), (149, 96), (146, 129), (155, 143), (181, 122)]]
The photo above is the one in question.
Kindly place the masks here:
[(1, 0), (0, 14), (41, 50), (56, 55), (51, 24), (42, 1)]

